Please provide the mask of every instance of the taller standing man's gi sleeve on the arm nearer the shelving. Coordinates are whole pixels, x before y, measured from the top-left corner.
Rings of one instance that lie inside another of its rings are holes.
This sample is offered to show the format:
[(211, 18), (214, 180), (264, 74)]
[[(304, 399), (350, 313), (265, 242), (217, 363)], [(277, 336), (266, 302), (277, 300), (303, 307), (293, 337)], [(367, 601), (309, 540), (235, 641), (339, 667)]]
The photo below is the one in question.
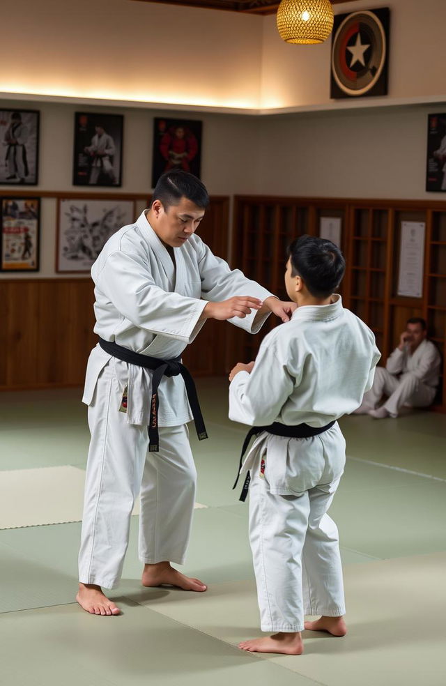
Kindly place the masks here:
[[(202, 284), (201, 296), (204, 300), (221, 303), (222, 300), (228, 300), (234, 296), (252, 296), (252, 298), (259, 298), (259, 300), (266, 300), (272, 296), (272, 293), (266, 288), (247, 279), (240, 269), (231, 269), (229, 264), (224, 259), (216, 257), (205, 243), (197, 241), (197, 245)], [(257, 333), (270, 314), (270, 312), (259, 314), (256, 310), (252, 310), (245, 319), (233, 317), (228, 321), (234, 326), (245, 329), (248, 333)]]

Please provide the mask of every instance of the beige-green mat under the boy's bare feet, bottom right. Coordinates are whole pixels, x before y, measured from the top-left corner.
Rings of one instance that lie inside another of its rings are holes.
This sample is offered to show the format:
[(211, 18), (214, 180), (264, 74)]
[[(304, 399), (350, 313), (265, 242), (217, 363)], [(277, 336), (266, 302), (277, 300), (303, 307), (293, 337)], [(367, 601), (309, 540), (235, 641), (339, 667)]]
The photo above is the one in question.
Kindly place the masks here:
[[(445, 565), (436, 554), (346, 567), (347, 636), (304, 632), (304, 655), (261, 658), (327, 686), (443, 686)], [(146, 603), (231, 645), (262, 635), (252, 581), (219, 584), (199, 600), (154, 594)]]

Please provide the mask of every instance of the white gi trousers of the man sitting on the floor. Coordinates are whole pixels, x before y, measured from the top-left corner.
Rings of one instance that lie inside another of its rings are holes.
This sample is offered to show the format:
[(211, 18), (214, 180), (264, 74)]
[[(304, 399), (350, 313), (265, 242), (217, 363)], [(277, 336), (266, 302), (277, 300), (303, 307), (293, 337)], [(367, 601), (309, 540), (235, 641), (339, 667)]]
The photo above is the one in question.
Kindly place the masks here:
[(388, 399), (383, 406), (387, 412), (397, 416), (399, 410), (404, 405), (410, 407), (429, 407), (433, 403), (435, 394), (435, 388), (426, 386), (412, 372), (395, 376), (387, 372), (387, 369), (384, 369), (384, 367), (376, 367), (374, 384), (364, 394), (362, 404), (369, 405), (371, 409), (374, 409), (378, 405), (381, 396), (387, 395)]

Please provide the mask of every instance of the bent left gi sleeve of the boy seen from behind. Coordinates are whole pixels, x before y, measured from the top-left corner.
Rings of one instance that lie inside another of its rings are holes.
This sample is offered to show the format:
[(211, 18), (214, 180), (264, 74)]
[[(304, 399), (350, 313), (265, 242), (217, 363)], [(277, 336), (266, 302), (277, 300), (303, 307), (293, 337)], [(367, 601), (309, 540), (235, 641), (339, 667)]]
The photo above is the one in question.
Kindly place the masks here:
[[(284, 325), (286, 326), (286, 324)], [(271, 332), (274, 333), (274, 332)], [(249, 426), (268, 426), (300, 383), (281, 361), (277, 346), (263, 340), (251, 374), (239, 372), (229, 386), (229, 419)]]

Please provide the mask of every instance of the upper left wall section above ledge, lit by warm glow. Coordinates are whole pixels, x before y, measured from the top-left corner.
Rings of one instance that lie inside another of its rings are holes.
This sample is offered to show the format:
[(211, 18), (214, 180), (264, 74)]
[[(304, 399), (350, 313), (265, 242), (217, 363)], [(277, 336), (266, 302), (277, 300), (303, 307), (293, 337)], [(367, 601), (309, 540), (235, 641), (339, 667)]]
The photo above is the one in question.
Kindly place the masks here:
[(259, 106), (261, 17), (132, 0), (2, 0), (1, 11), (0, 91)]

